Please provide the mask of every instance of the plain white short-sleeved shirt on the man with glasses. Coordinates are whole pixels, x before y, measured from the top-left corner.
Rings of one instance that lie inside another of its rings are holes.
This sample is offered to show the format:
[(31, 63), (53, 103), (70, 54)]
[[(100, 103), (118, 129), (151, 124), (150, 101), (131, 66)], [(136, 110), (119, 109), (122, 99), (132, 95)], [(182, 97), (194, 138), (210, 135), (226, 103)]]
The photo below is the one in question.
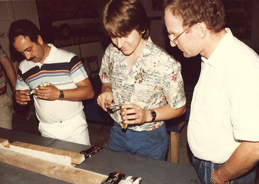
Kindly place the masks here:
[(224, 163), (245, 141), (259, 141), (259, 56), (228, 33), (209, 59), (191, 102), (188, 143), (193, 155)]

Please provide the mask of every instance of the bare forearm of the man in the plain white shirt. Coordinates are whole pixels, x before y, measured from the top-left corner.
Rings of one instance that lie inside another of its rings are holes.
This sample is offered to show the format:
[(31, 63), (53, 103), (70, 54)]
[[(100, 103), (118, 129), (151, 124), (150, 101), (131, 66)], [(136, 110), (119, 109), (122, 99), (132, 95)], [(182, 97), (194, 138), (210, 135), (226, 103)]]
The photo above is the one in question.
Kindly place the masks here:
[(259, 142), (243, 141), (228, 161), (214, 173), (217, 182), (235, 179), (252, 169), (259, 160)]

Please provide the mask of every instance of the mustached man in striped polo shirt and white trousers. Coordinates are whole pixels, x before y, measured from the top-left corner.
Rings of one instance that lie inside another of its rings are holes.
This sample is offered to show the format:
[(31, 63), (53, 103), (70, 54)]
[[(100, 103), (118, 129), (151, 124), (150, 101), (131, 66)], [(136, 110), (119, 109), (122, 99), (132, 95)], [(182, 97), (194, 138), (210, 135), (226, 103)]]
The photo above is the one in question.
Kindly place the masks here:
[(17, 71), (16, 101), (26, 105), (33, 95), (42, 136), (90, 145), (82, 100), (94, 91), (82, 62), (74, 53), (46, 44), (39, 28), (26, 19), (13, 22), (9, 39), (24, 59)]

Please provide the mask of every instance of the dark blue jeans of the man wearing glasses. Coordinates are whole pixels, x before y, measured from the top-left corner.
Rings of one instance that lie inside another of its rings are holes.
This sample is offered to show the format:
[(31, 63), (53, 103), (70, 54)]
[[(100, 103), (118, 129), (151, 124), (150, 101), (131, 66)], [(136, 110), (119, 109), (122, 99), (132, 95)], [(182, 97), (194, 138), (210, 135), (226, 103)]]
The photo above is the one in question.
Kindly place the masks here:
[[(192, 157), (193, 166), (199, 175), (201, 183), (211, 183), (210, 175), (213, 170), (219, 169), (223, 164), (213, 164), (212, 162)], [(231, 180), (230, 183), (254, 183), (256, 177), (256, 169), (253, 168), (246, 174)]]

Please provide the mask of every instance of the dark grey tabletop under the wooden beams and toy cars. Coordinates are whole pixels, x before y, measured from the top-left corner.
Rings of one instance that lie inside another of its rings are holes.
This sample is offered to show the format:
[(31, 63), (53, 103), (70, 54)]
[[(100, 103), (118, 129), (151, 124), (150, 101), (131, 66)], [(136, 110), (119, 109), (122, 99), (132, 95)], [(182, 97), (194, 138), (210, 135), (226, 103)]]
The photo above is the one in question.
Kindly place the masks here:
[[(88, 147), (3, 128), (0, 128), (0, 138), (8, 139), (9, 143), (20, 141), (74, 152), (80, 152)], [(195, 169), (191, 166), (122, 154), (106, 148), (76, 167), (105, 175), (109, 175), (110, 172), (123, 172), (124, 179), (129, 175), (142, 177), (142, 184), (200, 182)], [(0, 162), (0, 175), (1, 183), (67, 183), (2, 162)]]

